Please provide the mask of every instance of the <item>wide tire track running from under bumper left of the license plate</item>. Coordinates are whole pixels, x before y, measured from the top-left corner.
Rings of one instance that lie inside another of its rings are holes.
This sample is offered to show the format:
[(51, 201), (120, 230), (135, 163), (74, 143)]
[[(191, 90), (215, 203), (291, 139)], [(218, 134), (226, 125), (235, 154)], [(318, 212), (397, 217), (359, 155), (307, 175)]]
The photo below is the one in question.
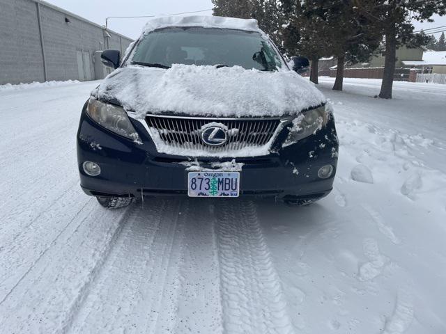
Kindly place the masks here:
[(137, 207), (63, 333), (167, 333), (176, 324), (185, 200)]

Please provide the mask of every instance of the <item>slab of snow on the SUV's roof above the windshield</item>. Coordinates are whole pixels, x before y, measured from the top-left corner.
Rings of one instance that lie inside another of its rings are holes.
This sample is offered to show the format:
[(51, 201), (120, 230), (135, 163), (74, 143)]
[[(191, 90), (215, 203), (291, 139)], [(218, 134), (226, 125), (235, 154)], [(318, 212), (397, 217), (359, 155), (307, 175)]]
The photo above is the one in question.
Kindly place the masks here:
[(235, 17), (204, 15), (157, 17), (149, 20), (142, 32), (146, 34), (169, 26), (203, 26), (205, 28), (257, 31), (263, 34), (256, 19), (236, 19)]

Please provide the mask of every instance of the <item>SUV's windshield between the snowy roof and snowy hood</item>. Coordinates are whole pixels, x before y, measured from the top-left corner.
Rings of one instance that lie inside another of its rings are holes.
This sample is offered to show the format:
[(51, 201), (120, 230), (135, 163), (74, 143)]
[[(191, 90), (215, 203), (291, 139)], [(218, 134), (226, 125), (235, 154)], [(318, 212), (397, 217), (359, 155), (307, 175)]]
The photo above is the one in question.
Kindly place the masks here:
[(239, 65), (262, 71), (282, 67), (279, 55), (260, 33), (202, 27), (153, 31), (139, 41), (130, 61), (157, 67)]

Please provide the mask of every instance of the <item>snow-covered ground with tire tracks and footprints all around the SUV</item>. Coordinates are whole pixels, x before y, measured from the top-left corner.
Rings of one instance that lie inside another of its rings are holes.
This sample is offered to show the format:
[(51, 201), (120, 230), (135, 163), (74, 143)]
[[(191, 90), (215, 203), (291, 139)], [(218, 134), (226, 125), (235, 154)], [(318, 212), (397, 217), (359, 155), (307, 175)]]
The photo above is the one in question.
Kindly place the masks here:
[(1, 333), (446, 333), (446, 86), (322, 78), (341, 150), (311, 207), (110, 212), (76, 170), (95, 85), (0, 91)]

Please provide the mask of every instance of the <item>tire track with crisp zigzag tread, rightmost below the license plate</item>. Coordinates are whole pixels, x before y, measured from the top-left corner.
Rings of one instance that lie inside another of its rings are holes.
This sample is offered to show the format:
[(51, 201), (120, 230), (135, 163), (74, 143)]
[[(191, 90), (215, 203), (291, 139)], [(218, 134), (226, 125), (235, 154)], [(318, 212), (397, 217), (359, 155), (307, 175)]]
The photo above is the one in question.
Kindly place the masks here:
[(253, 202), (224, 202), (217, 216), (226, 333), (294, 333)]

